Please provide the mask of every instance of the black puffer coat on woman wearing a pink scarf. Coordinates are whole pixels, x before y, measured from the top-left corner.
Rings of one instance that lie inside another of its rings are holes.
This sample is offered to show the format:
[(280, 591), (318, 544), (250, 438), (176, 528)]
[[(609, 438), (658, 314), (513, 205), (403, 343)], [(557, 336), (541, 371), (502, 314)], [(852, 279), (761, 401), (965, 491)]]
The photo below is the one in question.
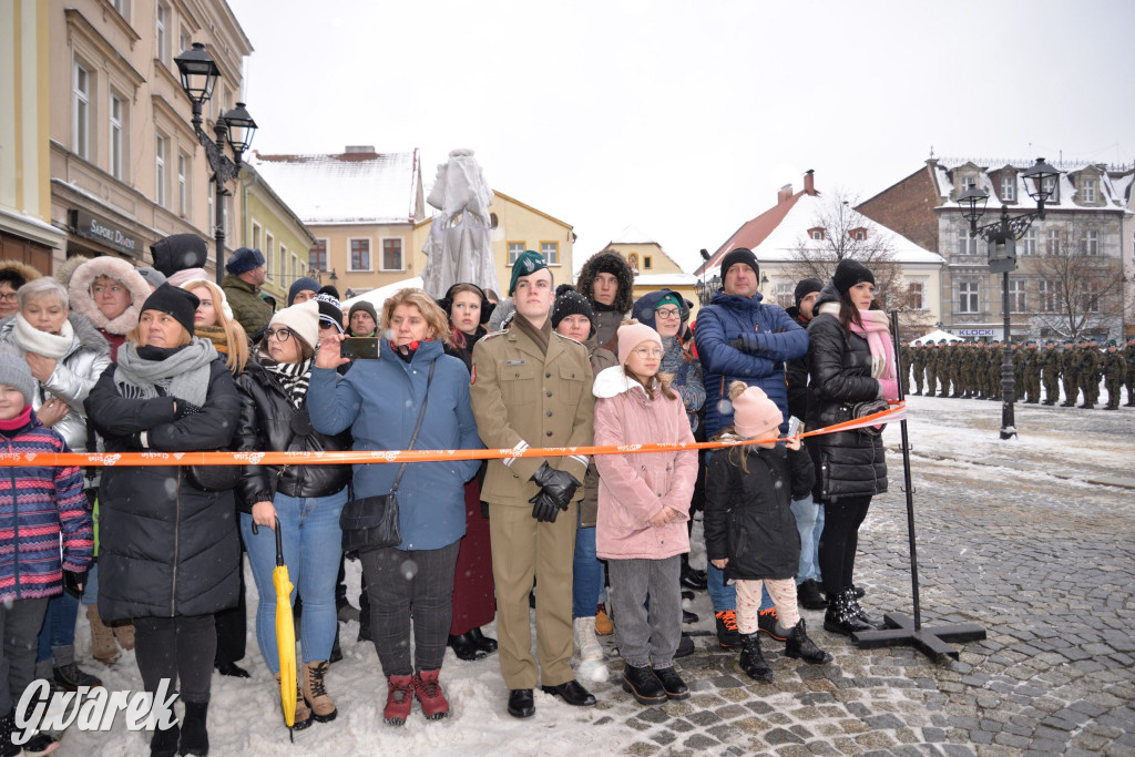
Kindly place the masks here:
[[(824, 305), (829, 305), (825, 308)], [(871, 377), (871, 348), (858, 334), (849, 334), (839, 316), (824, 312), (839, 306), (831, 281), (816, 300), (816, 317), (808, 325), (809, 430), (851, 419), (860, 402), (877, 399), (880, 384)], [(814, 437), (817, 502), (843, 496), (873, 496), (886, 491), (886, 459), (882, 436), (861, 430)]]

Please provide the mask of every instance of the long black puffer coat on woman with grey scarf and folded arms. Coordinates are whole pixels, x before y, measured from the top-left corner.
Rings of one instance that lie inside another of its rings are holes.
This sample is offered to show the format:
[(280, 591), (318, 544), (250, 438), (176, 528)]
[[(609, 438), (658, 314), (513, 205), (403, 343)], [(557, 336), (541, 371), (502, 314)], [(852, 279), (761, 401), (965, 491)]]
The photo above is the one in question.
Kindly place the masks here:
[[(129, 399), (108, 368), (86, 399), (107, 453), (227, 449), (241, 399), (221, 361), (210, 365), (200, 413), (176, 420), (174, 399)], [(233, 490), (207, 493), (182, 466), (108, 466), (99, 491), (99, 614), (129, 617), (208, 615), (236, 605), (241, 540)]]

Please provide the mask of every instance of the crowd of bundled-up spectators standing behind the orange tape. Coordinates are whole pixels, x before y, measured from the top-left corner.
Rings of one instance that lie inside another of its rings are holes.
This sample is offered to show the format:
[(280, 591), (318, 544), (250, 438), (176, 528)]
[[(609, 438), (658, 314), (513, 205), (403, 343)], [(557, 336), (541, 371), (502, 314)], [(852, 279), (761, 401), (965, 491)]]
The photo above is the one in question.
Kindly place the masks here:
[[(100, 684), (76, 661), (81, 605), (95, 661), (134, 649), (145, 690), (168, 680), (179, 695), (180, 717), (154, 731), (151, 754), (208, 754), (212, 675), (250, 675), (237, 664), (244, 560), (259, 596), (254, 638), (281, 685), (277, 541), (300, 619), (295, 729), (334, 721), (345, 693), (327, 676), (342, 657), (339, 620), (354, 609), (345, 549), (362, 564), (354, 617), (378, 653), (390, 725), (414, 703), (426, 718), (448, 715), (447, 648), (466, 661), (496, 655), (514, 717), (535, 713), (537, 685), (592, 706), (585, 683), (606, 670), (597, 637), (611, 633), (628, 693), (644, 705), (686, 699), (674, 661), (695, 651), (682, 631), (697, 621), (682, 608), (690, 590), (708, 590), (717, 644), (757, 681), (773, 680), (760, 634), (788, 657), (831, 662), (800, 607), (823, 609), (836, 634), (882, 626), (855, 583), (859, 528), (886, 491), (881, 429), (799, 436), (898, 399), (889, 322), (864, 266), (844, 260), (827, 281), (800, 281), (784, 311), (762, 301), (753, 252), (732, 250), (693, 322), (679, 293), (636, 300), (630, 266), (609, 251), (574, 286), (557, 287), (528, 251), (504, 300), (455, 283), (438, 300), (402, 289), (380, 312), (364, 302), (344, 312), (310, 278), (274, 309), (260, 296), (258, 250), (237, 250), (220, 286), (193, 235), (152, 253), (146, 268), (73, 258), (53, 277), (0, 264), (7, 452), (513, 454), (9, 468), (0, 756), (19, 752), (14, 703), (33, 680)], [(375, 354), (344, 348), (360, 337)], [(726, 446), (523, 454), (714, 439)], [(371, 515), (395, 499), (397, 528), (379, 538)], [(688, 558), (698, 511), (706, 571)], [(494, 621), (497, 638), (482, 632)], [(39, 733), (23, 749), (56, 746)]]

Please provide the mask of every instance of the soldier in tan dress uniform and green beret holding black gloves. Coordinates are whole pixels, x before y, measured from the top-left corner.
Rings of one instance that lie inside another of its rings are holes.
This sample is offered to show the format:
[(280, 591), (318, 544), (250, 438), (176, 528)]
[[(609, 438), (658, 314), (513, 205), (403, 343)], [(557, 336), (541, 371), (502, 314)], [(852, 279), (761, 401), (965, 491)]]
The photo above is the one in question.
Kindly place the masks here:
[[(591, 364), (583, 345), (552, 329), (555, 285), (543, 255), (529, 250), (518, 258), (508, 294), (516, 305), (512, 328), (489, 334), (473, 347), (470, 397), (481, 440), (502, 449), (590, 445)], [(595, 704), (570, 664), (572, 560), (587, 464), (581, 455), (488, 464), (481, 498), (489, 503), (498, 655), (514, 717), (536, 712), (532, 689), (538, 680), (544, 691), (570, 705)], [(539, 586), (539, 663), (532, 657), (529, 624), (533, 578)]]

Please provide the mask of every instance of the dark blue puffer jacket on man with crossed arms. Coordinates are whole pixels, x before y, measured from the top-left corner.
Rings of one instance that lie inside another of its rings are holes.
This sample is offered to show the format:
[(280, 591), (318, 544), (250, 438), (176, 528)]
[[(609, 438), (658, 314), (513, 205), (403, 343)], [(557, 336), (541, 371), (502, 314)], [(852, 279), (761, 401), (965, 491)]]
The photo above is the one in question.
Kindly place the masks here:
[[(808, 333), (779, 305), (760, 302), (760, 294), (740, 297), (718, 292), (698, 311), (693, 342), (705, 369), (706, 437), (733, 424), (733, 411), (723, 413), (732, 381), (760, 387), (784, 413), (781, 431), (788, 430), (788, 385), (784, 362), (808, 353)], [(743, 339), (743, 348), (730, 342)]]

